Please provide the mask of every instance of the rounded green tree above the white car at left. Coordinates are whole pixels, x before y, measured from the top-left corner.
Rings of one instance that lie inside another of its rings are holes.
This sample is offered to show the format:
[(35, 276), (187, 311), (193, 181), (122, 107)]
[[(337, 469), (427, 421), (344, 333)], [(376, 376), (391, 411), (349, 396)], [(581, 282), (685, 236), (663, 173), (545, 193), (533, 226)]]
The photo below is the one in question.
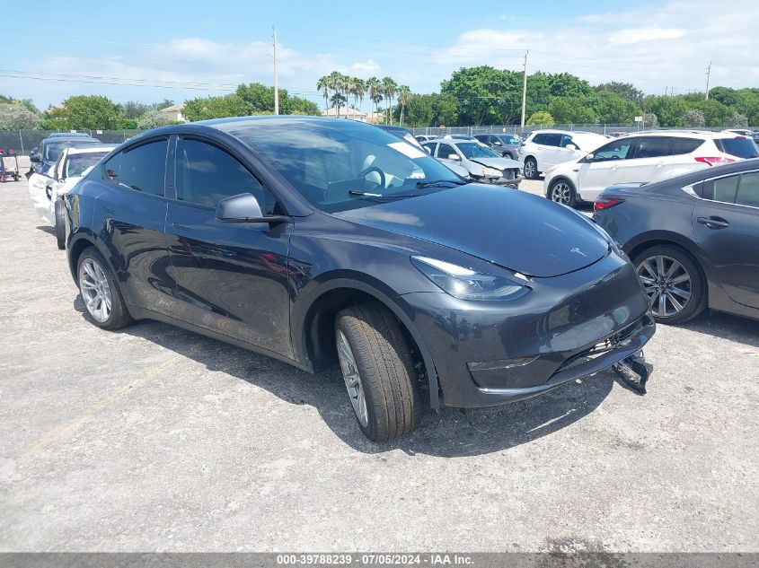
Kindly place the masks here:
[(63, 105), (50, 109), (43, 127), (50, 130), (114, 130), (124, 127), (125, 117), (107, 97), (98, 95), (69, 97)]

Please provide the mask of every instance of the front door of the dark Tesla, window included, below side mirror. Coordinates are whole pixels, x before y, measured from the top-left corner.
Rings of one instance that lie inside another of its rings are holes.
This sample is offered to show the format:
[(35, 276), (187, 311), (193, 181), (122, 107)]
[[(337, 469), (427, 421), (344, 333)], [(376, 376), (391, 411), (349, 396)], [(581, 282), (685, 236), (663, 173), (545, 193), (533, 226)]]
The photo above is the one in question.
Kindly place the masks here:
[(223, 223), (216, 205), (251, 193), (281, 213), (267, 188), (231, 153), (199, 138), (176, 146), (176, 200), (166, 232), (181, 319), (292, 357), (287, 249), (292, 224)]

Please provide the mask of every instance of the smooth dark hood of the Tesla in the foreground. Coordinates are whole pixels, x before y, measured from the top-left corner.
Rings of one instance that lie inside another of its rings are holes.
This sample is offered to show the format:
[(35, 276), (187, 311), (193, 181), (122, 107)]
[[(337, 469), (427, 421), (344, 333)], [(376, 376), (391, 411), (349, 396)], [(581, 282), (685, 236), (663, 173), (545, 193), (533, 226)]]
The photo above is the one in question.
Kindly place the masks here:
[(564, 205), (481, 184), (336, 214), (460, 250), (525, 275), (551, 277), (604, 258), (609, 243)]

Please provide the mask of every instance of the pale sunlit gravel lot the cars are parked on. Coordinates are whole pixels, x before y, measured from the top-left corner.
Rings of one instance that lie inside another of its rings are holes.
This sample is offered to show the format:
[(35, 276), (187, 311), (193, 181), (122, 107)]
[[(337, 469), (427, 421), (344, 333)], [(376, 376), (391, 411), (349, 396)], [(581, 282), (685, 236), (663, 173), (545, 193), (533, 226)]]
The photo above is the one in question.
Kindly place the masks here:
[(378, 446), (337, 368), (95, 328), (0, 194), (0, 550), (759, 549), (755, 321), (660, 326), (645, 397), (604, 372)]

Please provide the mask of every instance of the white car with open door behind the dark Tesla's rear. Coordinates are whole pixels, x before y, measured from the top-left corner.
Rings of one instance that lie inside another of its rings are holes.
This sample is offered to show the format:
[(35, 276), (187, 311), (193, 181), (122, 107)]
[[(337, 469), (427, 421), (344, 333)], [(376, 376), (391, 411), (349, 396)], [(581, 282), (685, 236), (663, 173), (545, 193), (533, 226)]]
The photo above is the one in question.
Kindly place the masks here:
[(40, 217), (55, 227), (58, 249), (66, 248), (62, 198), (115, 148), (113, 144), (66, 148), (49, 170), (31, 174), (29, 196)]

